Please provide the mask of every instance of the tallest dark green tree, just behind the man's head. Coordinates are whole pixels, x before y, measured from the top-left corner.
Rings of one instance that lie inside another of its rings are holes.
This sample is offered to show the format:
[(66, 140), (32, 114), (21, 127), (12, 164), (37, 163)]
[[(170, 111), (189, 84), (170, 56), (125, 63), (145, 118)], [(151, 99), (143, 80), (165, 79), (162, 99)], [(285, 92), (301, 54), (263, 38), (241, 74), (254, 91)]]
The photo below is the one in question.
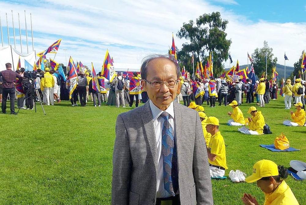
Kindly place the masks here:
[(192, 74), (191, 55), (194, 53), (194, 61), (199, 61), (199, 56), (204, 63), (207, 56), (212, 51), (214, 55), (214, 74), (219, 75), (223, 72), (222, 61), (228, 58), (231, 40), (226, 39), (227, 20), (222, 20), (220, 12), (210, 14), (204, 13), (196, 19), (183, 23), (177, 32), (177, 37), (187, 39), (189, 42), (183, 43), (182, 49), (177, 52), (177, 58), (181, 65)]

